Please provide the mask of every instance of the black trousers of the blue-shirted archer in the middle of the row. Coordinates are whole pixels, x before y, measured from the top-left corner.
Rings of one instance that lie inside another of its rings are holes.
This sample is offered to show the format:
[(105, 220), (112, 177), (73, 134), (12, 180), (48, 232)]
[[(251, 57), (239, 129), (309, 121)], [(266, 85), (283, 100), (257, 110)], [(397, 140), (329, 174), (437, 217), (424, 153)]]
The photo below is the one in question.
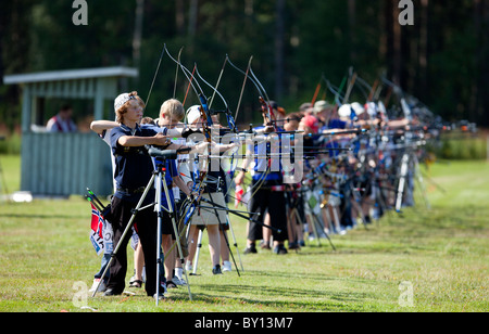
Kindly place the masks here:
[[(254, 217), (253, 219), (263, 222), (266, 211), (269, 214), (271, 226), (280, 229), (281, 232), (278, 233), (272, 230), (272, 235), (274, 241), (283, 242), (288, 239), (287, 235), (287, 213), (286, 213), (286, 197), (283, 191), (273, 191), (269, 187), (275, 185), (274, 183), (265, 182), (262, 188), (260, 188), (253, 197), (250, 198), (248, 203), (248, 210), (251, 213), (260, 213), (260, 217)], [(255, 184), (253, 184), (252, 190), (254, 191)], [(251, 241), (263, 239), (263, 227), (250, 221), (248, 230), (248, 239)]]

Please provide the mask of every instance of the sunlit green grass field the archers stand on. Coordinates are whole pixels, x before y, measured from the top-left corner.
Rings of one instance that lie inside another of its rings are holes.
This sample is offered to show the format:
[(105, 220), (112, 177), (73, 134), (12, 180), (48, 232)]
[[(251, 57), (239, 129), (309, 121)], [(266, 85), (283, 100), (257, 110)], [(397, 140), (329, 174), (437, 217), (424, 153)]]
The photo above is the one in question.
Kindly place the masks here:
[[(0, 162), (9, 190), (17, 190), (18, 157)], [(88, 241), (88, 202), (0, 203), (0, 311), (488, 311), (489, 164), (422, 170), (430, 209), (417, 192), (417, 205), (402, 216), (390, 213), (368, 230), (333, 235), (336, 252), (322, 240), (286, 256), (242, 255), (246, 223), (233, 219), (241, 275), (211, 273), (205, 236), (200, 275), (189, 277), (193, 301), (180, 287), (158, 308), (141, 290), (84, 300), (83, 287), (100, 266)]]

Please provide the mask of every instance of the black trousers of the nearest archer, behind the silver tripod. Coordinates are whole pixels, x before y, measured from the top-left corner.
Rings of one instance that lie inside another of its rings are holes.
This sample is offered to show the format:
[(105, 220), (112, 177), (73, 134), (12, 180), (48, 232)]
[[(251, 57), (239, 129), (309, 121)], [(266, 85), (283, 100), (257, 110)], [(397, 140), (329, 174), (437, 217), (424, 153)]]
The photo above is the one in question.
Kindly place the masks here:
[[(116, 294), (122, 294), (125, 288), (125, 279), (127, 272), (127, 243), (130, 241), (133, 232), (129, 231), (126, 237), (122, 240), (127, 223), (133, 216), (131, 210), (137, 203), (124, 201), (117, 197), (112, 198), (111, 223), (114, 230), (114, 248), (121, 242), (121, 247), (115, 254), (110, 268), (110, 279), (106, 287), (112, 288)], [(146, 292), (148, 296), (153, 296), (156, 292), (156, 233), (158, 216), (150, 206), (139, 210), (135, 217), (134, 223), (139, 235), (139, 242), (142, 245), (146, 264)], [(163, 275), (164, 273), (162, 273)], [(160, 283), (160, 282), (159, 282)]]

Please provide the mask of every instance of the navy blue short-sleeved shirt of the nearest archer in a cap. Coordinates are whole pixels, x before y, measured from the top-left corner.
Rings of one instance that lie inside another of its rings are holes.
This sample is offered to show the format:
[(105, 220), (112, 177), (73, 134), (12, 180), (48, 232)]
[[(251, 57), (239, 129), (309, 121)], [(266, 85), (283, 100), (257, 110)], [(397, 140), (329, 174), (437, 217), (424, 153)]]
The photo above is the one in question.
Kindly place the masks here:
[[(124, 136), (153, 137), (154, 134), (156, 134), (155, 131), (142, 129), (138, 125), (135, 130), (121, 125), (111, 131), (111, 149), (115, 159), (114, 179), (117, 183), (116, 197), (137, 202), (142, 194), (141, 190), (148, 185), (154, 169), (151, 157), (143, 146), (122, 146), (118, 144), (118, 139)], [(147, 198), (152, 201), (154, 195), (148, 194)]]

